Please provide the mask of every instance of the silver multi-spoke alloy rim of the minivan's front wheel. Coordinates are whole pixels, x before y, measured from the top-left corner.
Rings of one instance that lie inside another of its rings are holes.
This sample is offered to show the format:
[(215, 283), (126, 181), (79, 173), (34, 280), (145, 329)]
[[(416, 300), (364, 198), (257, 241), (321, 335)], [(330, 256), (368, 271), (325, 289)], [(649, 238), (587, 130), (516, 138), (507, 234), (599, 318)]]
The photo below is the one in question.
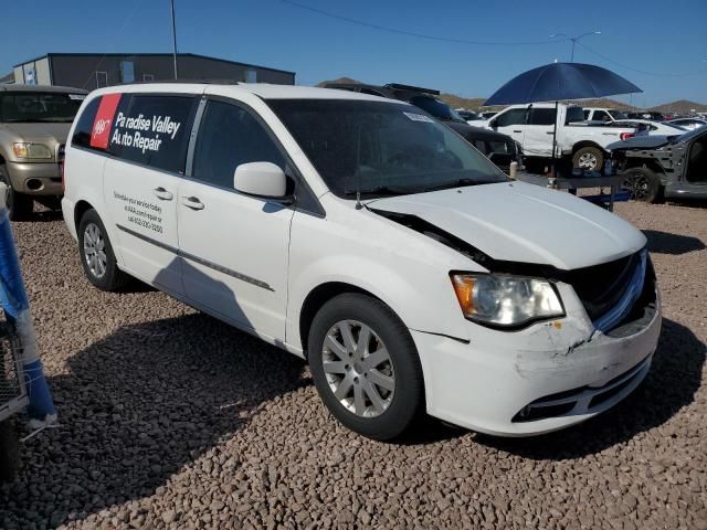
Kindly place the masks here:
[(341, 320), (327, 331), (321, 362), (329, 389), (339, 403), (359, 417), (384, 413), (395, 393), (390, 353), (369, 326)]

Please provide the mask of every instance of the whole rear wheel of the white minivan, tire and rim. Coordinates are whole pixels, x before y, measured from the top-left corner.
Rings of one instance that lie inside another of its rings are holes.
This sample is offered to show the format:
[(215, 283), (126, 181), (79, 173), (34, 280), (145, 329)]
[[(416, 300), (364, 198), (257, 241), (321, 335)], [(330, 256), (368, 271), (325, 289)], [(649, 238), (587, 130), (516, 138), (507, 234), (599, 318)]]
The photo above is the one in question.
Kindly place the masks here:
[(123, 287), (128, 275), (118, 268), (103, 221), (95, 210), (88, 210), (78, 223), (78, 252), (84, 273), (101, 290)]

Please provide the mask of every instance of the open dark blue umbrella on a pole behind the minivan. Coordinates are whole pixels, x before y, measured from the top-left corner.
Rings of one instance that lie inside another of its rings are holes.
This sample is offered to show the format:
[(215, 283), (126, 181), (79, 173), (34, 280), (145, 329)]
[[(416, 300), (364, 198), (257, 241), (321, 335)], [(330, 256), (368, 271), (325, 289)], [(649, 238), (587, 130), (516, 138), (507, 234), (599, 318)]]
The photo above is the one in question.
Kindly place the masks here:
[[(613, 72), (582, 63), (551, 63), (529, 70), (498, 88), (484, 106), (523, 103), (589, 99), (643, 92)], [(557, 144), (557, 124), (552, 134), (552, 165)]]

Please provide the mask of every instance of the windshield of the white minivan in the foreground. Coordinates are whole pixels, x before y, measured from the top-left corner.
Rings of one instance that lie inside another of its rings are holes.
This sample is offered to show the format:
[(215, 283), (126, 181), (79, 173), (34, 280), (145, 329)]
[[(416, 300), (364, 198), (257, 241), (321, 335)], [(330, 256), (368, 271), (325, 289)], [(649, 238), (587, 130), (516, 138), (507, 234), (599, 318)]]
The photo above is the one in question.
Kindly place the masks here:
[(398, 103), (267, 102), (338, 197), (399, 195), (504, 182), (506, 176), (449, 127)]

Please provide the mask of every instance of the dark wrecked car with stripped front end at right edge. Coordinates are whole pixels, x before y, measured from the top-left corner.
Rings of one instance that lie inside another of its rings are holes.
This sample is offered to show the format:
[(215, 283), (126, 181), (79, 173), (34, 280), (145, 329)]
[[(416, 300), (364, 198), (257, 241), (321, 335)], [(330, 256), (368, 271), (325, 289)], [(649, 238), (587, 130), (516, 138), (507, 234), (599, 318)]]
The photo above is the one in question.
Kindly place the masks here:
[(608, 149), (634, 200), (707, 199), (707, 127), (679, 136), (637, 136)]

